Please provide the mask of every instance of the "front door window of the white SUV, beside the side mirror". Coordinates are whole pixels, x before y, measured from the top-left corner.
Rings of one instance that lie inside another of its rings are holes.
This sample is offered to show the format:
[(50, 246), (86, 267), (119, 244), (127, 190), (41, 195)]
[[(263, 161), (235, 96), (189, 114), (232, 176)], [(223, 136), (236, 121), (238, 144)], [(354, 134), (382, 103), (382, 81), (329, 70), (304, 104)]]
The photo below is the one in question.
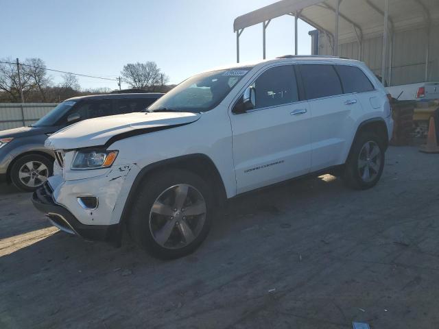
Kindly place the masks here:
[(268, 108), (298, 101), (296, 75), (292, 65), (274, 66), (252, 84), (256, 90), (255, 108)]

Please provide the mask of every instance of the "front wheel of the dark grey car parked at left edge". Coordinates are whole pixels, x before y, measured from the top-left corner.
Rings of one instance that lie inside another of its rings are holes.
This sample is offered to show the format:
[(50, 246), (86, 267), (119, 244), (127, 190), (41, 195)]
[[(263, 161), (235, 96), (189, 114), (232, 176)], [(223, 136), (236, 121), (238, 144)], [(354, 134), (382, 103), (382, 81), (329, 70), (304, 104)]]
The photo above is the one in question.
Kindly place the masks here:
[(40, 154), (22, 156), (12, 164), (10, 179), (23, 192), (35, 191), (54, 173), (54, 162)]

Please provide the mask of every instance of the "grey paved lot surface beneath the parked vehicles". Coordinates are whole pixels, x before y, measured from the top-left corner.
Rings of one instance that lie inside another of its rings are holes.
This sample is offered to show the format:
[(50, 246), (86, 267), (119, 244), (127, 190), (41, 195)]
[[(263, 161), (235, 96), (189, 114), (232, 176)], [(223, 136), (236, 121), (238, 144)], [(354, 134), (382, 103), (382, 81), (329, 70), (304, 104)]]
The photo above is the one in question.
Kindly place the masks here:
[(438, 328), (439, 156), (387, 156), (368, 191), (325, 175), (235, 199), (167, 262), (58, 232), (0, 186), (0, 328)]

